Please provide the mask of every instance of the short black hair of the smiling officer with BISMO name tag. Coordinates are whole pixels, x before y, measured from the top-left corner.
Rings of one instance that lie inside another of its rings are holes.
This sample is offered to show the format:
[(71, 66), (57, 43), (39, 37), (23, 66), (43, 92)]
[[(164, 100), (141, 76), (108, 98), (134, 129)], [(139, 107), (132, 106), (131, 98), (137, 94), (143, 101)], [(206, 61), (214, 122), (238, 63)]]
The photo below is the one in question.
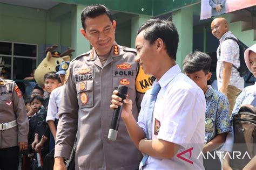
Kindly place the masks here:
[(87, 6), (85, 9), (83, 9), (81, 14), (81, 22), (82, 22), (83, 29), (84, 30), (86, 29), (86, 25), (85, 25), (86, 18), (95, 18), (104, 14), (106, 14), (107, 17), (109, 17), (110, 21), (113, 22), (113, 18), (110, 13), (110, 10), (107, 9), (106, 6), (100, 5), (100, 4)]

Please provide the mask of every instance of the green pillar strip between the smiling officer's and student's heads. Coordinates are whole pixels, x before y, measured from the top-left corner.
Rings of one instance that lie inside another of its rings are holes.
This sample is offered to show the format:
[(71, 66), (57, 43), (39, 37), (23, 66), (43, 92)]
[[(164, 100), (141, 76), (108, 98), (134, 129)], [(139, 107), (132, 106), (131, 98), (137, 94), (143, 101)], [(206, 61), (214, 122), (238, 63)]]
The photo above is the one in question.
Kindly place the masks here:
[(135, 47), (135, 39), (137, 37), (137, 32), (139, 30), (139, 27), (142, 26), (146, 22), (146, 20), (150, 19), (151, 16), (145, 16), (145, 15), (138, 15), (132, 17), (131, 21), (131, 47)]

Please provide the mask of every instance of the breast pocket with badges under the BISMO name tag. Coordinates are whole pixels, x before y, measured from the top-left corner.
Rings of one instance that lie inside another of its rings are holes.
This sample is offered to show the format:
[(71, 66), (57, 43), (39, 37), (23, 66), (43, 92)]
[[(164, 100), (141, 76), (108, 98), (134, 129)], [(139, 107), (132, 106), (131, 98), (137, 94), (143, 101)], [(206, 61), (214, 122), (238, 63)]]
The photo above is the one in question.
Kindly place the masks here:
[(93, 107), (93, 80), (77, 82), (76, 89), (79, 107)]

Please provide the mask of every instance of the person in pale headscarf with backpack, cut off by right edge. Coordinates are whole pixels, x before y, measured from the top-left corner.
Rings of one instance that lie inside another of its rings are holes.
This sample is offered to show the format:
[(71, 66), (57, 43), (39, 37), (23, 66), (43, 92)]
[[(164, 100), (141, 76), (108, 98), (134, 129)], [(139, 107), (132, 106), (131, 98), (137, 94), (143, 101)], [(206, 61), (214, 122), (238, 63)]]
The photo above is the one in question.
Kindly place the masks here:
[[(252, 72), (253, 76), (256, 79), (256, 44), (246, 49), (245, 51), (245, 63), (250, 72)], [(231, 115), (231, 122), (233, 121), (234, 115), (238, 114), (239, 109), (243, 105), (250, 104), (251, 107), (256, 107), (256, 83), (252, 86), (247, 86), (240, 95), (237, 97), (235, 101), (234, 109)], [(234, 143), (234, 132), (228, 133), (226, 142), (225, 142), (225, 151), (232, 152), (232, 147)], [(235, 151), (234, 151), (235, 152)], [(232, 169), (230, 165), (230, 158), (227, 156), (223, 161), (223, 169)], [(243, 169), (256, 169), (256, 155), (251, 159), (250, 162)]]

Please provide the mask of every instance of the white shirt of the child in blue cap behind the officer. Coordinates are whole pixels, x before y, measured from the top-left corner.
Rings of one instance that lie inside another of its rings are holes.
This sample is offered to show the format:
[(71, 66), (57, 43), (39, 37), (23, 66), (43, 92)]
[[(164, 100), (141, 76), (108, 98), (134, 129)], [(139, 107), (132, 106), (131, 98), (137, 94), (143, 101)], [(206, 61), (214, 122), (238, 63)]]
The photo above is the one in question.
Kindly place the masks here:
[(47, 116), (46, 116), (46, 122), (47, 121), (55, 121), (55, 119), (59, 119), (58, 111), (59, 111), (59, 105), (60, 101), (62, 99), (62, 91), (64, 86), (60, 86), (54, 90), (52, 90), (49, 104), (48, 104), (48, 110), (47, 110)]

